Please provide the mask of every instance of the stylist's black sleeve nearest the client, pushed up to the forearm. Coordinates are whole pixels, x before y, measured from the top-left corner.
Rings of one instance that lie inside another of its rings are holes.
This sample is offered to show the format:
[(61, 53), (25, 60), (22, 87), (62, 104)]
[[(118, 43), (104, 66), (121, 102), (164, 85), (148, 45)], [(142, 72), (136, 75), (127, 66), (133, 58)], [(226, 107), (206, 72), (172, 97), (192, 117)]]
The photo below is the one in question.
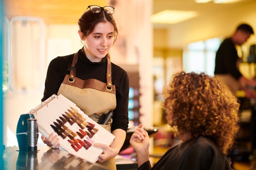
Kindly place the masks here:
[[(117, 71), (119, 70), (119, 71)], [(127, 72), (112, 67), (113, 84), (116, 84), (116, 108), (114, 109), (111, 131), (128, 129), (129, 78)]]

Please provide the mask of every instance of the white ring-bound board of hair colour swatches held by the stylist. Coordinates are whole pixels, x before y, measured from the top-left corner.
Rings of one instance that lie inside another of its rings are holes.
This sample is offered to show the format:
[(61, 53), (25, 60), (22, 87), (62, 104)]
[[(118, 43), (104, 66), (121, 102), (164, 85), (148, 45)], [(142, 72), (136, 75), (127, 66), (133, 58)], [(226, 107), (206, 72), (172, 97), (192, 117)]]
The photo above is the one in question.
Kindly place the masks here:
[(109, 146), (115, 138), (63, 95), (49, 97), (30, 113), (37, 119), (42, 135), (58, 135), (61, 148), (90, 163), (95, 163), (103, 152), (93, 143)]

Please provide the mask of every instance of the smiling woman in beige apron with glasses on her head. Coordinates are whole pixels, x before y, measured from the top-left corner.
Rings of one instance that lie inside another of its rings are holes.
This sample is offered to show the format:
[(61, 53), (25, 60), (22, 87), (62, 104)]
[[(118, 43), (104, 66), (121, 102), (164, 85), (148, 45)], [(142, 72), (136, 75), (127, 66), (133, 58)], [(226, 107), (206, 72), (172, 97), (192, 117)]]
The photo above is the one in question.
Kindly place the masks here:
[[(62, 94), (96, 122), (103, 113), (113, 111), (112, 122), (102, 125), (115, 135), (111, 146), (94, 144), (103, 149), (98, 162), (114, 170), (114, 157), (119, 153), (128, 128), (128, 74), (111, 63), (109, 51), (118, 30), (113, 7), (88, 6), (78, 20), (78, 34), (84, 44), (75, 54), (57, 57), (49, 66), (42, 101)], [(42, 140), (59, 148), (58, 137), (51, 134)]]

